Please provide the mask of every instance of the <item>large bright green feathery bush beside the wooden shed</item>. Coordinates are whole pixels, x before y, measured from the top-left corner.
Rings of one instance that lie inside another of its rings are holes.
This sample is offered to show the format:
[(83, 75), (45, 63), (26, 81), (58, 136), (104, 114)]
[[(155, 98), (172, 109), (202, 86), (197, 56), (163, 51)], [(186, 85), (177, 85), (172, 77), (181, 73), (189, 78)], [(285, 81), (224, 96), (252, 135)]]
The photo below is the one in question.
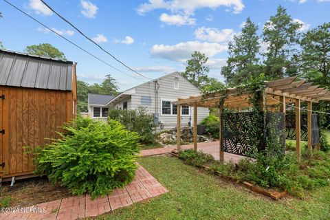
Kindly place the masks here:
[(78, 118), (63, 129), (61, 138), (37, 148), (36, 173), (47, 175), (74, 195), (89, 192), (92, 198), (133, 180), (140, 151), (135, 132), (114, 120), (105, 124), (87, 118)]

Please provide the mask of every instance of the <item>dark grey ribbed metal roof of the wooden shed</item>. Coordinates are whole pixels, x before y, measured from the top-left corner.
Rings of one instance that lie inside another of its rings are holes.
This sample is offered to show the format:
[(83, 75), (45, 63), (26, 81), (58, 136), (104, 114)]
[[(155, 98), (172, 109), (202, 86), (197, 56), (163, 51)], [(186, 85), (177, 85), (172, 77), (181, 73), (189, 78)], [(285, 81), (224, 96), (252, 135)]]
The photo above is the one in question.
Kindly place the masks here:
[(0, 50), (0, 85), (72, 90), (71, 61)]

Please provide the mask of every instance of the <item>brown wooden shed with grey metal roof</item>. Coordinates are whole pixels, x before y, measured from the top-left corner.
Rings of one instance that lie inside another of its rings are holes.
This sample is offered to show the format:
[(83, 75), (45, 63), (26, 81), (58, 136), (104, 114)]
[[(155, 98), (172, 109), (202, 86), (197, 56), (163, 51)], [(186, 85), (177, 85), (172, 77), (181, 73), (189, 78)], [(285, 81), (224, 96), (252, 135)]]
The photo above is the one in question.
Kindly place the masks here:
[(0, 181), (33, 175), (25, 146), (58, 137), (76, 100), (76, 63), (0, 50)]

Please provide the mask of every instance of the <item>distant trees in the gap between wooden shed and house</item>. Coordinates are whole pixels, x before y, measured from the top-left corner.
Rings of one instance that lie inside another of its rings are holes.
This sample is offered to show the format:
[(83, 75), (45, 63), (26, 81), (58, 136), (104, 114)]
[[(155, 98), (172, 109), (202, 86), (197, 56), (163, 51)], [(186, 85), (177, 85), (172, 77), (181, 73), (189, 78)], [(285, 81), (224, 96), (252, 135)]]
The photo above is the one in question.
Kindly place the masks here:
[(101, 95), (111, 95), (117, 96), (118, 85), (115, 78), (111, 77), (110, 74), (106, 75), (101, 84), (94, 83), (89, 85), (81, 80), (77, 80), (77, 90), (78, 90), (78, 110), (82, 112), (87, 112), (87, 102), (88, 94), (101, 94)]

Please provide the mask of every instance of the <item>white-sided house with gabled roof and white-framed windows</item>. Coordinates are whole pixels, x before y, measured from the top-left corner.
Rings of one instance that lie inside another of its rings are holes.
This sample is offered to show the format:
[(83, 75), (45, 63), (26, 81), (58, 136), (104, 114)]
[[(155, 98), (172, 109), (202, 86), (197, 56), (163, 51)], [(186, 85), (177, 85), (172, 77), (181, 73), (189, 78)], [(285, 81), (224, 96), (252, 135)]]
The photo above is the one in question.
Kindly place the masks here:
[[(195, 94), (201, 94), (201, 91), (181, 74), (173, 72), (127, 89), (115, 97), (90, 94), (89, 117), (106, 120), (108, 109), (135, 110), (138, 107), (145, 107), (146, 111), (155, 115), (157, 129), (173, 129), (177, 126), (177, 105), (172, 102)], [(97, 96), (99, 98), (96, 98)], [(206, 118), (208, 113), (208, 108), (198, 108), (197, 123)], [(188, 124), (193, 126), (192, 118), (191, 107), (181, 107), (181, 126)]]

